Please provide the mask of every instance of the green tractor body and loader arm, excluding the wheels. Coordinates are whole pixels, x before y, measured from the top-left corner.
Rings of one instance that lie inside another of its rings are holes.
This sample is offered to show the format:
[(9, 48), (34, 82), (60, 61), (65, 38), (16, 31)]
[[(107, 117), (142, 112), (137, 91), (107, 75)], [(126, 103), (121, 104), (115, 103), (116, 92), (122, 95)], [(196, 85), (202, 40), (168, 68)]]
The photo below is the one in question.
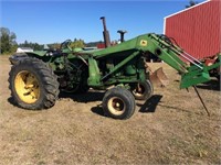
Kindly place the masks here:
[(62, 74), (81, 76), (86, 69), (88, 74), (84, 73), (81, 78), (70, 78), (69, 84), (76, 86), (86, 80), (84, 84), (101, 89), (112, 85), (125, 85), (128, 88), (129, 84), (148, 79), (143, 58), (149, 54), (158, 56), (181, 74), (180, 88), (209, 81), (209, 72), (220, 66), (220, 63), (212, 66), (199, 64), (201, 68), (189, 66), (181, 59), (182, 53), (180, 47), (169, 43), (161, 35), (149, 33), (104, 50), (63, 48), (61, 54), (54, 56), (48, 55), (45, 51), (28, 55), (49, 63), (60, 77)]

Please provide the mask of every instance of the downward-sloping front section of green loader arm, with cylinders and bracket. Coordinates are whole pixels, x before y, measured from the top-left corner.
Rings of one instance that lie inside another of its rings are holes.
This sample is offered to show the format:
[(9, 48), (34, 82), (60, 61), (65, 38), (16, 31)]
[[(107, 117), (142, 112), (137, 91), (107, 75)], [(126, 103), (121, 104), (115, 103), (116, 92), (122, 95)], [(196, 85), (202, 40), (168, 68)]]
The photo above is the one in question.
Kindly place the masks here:
[(152, 53), (181, 74), (181, 89), (211, 80), (209, 72), (221, 66), (220, 54), (218, 63), (207, 66), (173, 44), (166, 35), (149, 34), (149, 36), (156, 44), (156, 51)]

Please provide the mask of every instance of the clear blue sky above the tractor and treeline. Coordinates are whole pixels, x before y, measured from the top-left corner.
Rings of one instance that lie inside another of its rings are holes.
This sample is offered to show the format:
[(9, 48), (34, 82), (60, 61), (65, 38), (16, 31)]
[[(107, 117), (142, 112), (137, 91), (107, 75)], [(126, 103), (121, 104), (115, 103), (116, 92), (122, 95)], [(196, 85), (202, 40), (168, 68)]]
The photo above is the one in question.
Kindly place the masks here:
[[(204, 0), (197, 0), (202, 2)], [(101, 16), (110, 40), (126, 30), (125, 40), (145, 33), (164, 33), (164, 18), (183, 10), (189, 0), (0, 0), (0, 26), (24, 41), (50, 44), (67, 38), (103, 41)]]

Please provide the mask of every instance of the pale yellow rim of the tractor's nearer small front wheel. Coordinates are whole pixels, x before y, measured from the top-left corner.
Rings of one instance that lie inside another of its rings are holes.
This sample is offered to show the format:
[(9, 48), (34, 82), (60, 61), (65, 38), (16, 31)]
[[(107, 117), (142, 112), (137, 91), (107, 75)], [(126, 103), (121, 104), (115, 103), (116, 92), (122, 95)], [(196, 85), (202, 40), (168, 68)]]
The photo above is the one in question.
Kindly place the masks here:
[(125, 112), (126, 106), (125, 102), (117, 97), (113, 97), (108, 100), (107, 107), (109, 111), (115, 116), (120, 116)]

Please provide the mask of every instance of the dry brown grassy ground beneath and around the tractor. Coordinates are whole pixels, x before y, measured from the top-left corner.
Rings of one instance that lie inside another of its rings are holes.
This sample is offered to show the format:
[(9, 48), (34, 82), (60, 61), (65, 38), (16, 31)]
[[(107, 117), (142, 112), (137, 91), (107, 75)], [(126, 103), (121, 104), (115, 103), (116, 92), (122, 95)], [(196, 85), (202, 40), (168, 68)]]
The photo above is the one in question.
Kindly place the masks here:
[(0, 164), (220, 164), (220, 87), (198, 86), (208, 117), (192, 88), (179, 89), (179, 75), (164, 63), (165, 88), (137, 101), (129, 120), (104, 117), (103, 92), (61, 96), (49, 110), (13, 106), (10, 64), (0, 56)]

